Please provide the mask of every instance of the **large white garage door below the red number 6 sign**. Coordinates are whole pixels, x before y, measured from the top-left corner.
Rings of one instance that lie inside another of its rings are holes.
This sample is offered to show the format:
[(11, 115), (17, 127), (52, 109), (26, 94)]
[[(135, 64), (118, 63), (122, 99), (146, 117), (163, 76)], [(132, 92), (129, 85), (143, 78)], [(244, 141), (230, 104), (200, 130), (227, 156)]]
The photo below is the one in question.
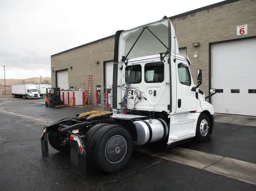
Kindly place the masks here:
[(256, 116), (256, 38), (212, 45), (214, 112)]

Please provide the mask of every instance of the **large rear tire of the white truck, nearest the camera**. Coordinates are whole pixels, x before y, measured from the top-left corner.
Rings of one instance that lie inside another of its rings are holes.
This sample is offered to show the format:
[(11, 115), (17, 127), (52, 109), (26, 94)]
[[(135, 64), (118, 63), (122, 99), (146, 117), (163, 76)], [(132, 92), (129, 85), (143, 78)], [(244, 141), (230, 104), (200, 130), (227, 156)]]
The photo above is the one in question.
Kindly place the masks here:
[(107, 173), (116, 173), (129, 163), (132, 146), (132, 137), (123, 126), (105, 125), (91, 142), (94, 163)]

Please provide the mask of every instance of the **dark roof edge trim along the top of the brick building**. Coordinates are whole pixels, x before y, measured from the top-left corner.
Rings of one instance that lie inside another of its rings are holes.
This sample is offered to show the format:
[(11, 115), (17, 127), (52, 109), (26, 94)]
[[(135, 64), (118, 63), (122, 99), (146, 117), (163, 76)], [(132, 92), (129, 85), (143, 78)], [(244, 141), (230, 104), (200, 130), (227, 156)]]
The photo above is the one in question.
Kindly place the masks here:
[[(187, 15), (196, 13), (196, 12), (205, 11), (205, 10), (207, 10), (207, 9), (215, 8), (215, 7), (218, 7), (218, 6), (226, 5), (226, 4), (233, 3), (233, 2), (237, 2), (237, 1), (240, 1), (240, 0), (225, 0), (225, 1), (222, 1), (222, 2), (214, 3), (214, 4), (212, 4), (212, 5), (207, 5), (207, 6), (198, 8), (198, 9), (194, 9), (194, 10), (192, 10), (192, 11), (187, 11), (187, 12), (184, 12), (184, 13), (181, 13), (181, 14), (178, 14), (178, 15), (174, 15), (174, 16), (171, 16), (171, 17), (168, 17), (168, 18), (169, 18), (170, 20), (173, 20), (173, 19), (175, 19), (175, 18), (184, 17), (184, 16), (187, 16)], [(51, 57), (52, 57), (52, 56), (59, 55), (59, 54), (62, 54), (62, 53), (64, 53), (64, 52), (68, 52), (68, 51), (77, 49), (77, 48), (81, 48), (81, 47), (83, 47), (83, 46), (91, 45), (91, 44), (94, 44), (94, 43), (96, 43), (96, 42), (101, 42), (101, 41), (103, 41), (103, 40), (107, 40), (107, 39), (110, 39), (110, 38), (113, 38), (113, 37), (115, 37), (115, 34), (113, 34), (113, 35), (111, 35), (111, 36), (108, 36), (108, 37), (105, 37), (105, 38), (102, 38), (102, 39), (99, 39), (99, 40), (95, 40), (95, 41), (93, 41), (93, 42), (86, 43), (86, 44), (84, 44), (84, 45), (76, 46), (76, 47), (71, 48), (71, 49), (68, 49), (68, 50), (66, 50), (66, 51), (62, 51), (62, 52), (53, 54), (53, 55), (51, 55)]]

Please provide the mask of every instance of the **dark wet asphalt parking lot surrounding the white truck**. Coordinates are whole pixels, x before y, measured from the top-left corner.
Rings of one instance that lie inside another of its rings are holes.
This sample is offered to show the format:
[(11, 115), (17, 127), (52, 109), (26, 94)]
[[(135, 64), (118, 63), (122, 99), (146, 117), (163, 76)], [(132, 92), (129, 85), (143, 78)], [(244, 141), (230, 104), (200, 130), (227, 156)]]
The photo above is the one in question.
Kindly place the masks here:
[[(43, 99), (0, 98), (1, 191), (256, 190), (256, 185), (248, 183), (246, 179), (241, 181), (203, 170), (204, 168), (192, 167), (193, 165), (189, 163), (184, 165), (179, 161), (173, 162), (174, 157), (172, 159), (169, 157), (169, 160), (167, 157), (152, 156), (136, 150), (132, 154), (129, 165), (119, 173), (96, 172), (91, 177), (80, 177), (72, 171), (69, 156), (62, 156), (50, 145), (49, 159), (43, 158), (39, 137), (42, 128), (54, 120), (75, 116), (87, 110), (76, 107), (46, 108), (40, 102), (43, 102)], [(215, 123), (214, 133), (208, 142), (192, 141), (168, 148), (166, 152), (182, 148), (183, 154), (187, 151), (206, 153), (254, 165), (256, 163), (255, 143), (256, 127)], [(185, 161), (185, 155), (178, 153), (177, 156)], [(253, 182), (254, 176), (251, 176), (250, 180)]]

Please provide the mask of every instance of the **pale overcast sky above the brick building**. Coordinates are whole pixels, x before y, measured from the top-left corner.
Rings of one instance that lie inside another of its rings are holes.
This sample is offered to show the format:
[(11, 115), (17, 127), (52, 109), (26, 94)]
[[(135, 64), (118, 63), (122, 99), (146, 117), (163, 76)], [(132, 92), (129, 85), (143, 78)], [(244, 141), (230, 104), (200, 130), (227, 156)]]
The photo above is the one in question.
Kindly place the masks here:
[(0, 79), (50, 77), (52, 54), (217, 2), (0, 0)]

